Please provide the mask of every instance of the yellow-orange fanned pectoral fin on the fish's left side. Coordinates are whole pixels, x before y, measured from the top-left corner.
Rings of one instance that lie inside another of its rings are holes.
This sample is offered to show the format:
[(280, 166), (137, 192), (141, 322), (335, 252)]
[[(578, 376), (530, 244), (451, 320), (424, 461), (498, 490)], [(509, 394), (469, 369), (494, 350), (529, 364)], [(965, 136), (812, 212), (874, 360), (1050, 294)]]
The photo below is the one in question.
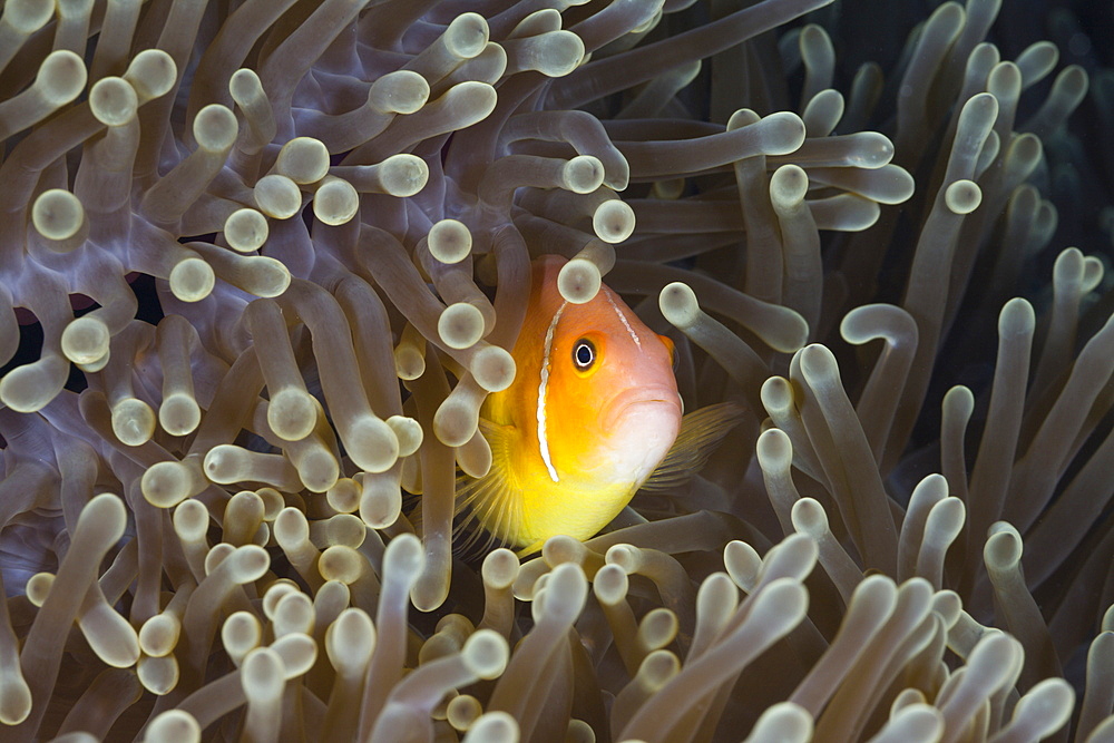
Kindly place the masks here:
[(458, 531), (467, 532), (461, 546), (465, 551), (476, 545), (486, 551), (491, 545), (501, 542), (504, 535), (516, 531), (521, 521), (521, 499), (510, 473), (515, 431), (514, 426), (480, 419), (480, 432), (491, 447), (491, 468), (481, 478), (457, 477), (455, 512), (465, 517), (457, 527)]

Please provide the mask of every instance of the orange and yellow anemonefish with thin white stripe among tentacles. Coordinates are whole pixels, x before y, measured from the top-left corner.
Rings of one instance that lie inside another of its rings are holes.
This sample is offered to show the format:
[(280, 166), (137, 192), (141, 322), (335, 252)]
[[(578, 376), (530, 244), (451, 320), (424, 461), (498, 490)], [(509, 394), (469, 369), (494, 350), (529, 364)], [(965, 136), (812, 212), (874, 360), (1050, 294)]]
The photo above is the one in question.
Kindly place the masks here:
[(687, 478), (740, 412), (724, 403), (682, 418), (672, 341), (607, 286), (585, 304), (566, 302), (565, 263), (532, 264), (515, 382), (480, 411), (491, 468), (457, 481), (458, 511), (524, 555), (555, 535), (587, 539), (639, 488)]

